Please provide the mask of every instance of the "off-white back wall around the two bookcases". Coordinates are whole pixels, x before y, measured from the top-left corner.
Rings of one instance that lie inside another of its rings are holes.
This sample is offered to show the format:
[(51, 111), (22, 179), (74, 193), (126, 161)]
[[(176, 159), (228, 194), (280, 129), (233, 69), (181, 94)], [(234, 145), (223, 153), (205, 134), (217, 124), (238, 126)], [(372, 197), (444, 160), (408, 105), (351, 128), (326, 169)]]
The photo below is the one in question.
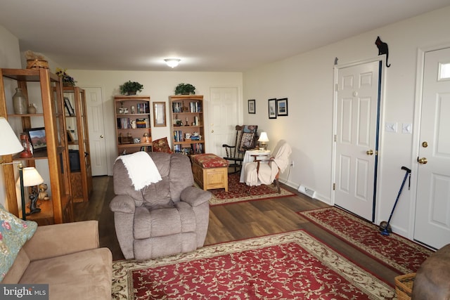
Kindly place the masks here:
[[(124, 82), (138, 81), (143, 84), (139, 94), (150, 96), (151, 102), (166, 103), (167, 126), (152, 128), (153, 140), (172, 136), (169, 126), (169, 96), (174, 95), (175, 86), (181, 82), (193, 84), (195, 93), (204, 96), (205, 132), (210, 124), (207, 119), (207, 103), (212, 87), (237, 87), (242, 101), (242, 73), (239, 72), (141, 72), (141, 71), (92, 71), (67, 70), (77, 80), (77, 86), (99, 86), (103, 90), (103, 111), (105, 122), (105, 141), (108, 152), (108, 175), (113, 175), (113, 163), (117, 157), (116, 132), (114, 119), (114, 96), (120, 95), (119, 86)], [(150, 111), (153, 117), (153, 110)], [(152, 126), (153, 126), (153, 120)]]

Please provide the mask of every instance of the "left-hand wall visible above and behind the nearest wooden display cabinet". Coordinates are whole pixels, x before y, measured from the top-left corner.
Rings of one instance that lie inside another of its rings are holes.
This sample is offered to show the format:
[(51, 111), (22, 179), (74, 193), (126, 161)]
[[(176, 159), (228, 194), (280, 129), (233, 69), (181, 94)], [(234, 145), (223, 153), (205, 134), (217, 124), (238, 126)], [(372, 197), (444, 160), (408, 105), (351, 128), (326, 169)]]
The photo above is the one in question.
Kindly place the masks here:
[[(0, 26), (0, 67), (20, 69), (19, 40)], [(12, 98), (17, 84), (12, 80), (5, 80), (5, 96)], [(6, 188), (3, 166), (0, 166), (0, 203), (6, 205)], [(6, 207), (8, 209), (8, 207)]]

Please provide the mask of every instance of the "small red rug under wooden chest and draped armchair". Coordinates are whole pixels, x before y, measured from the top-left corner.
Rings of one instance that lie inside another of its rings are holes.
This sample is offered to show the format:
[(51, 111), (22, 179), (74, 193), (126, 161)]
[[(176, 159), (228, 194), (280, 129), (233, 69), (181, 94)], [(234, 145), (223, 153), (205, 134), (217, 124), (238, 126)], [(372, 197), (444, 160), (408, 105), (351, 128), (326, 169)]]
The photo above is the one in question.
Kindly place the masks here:
[(234, 202), (263, 200), (268, 198), (286, 197), (295, 195), (288, 190), (281, 188), (281, 194), (274, 185), (258, 185), (250, 186), (239, 182), (240, 174), (229, 174), (228, 176), (228, 192), (224, 188), (210, 190), (212, 198), (210, 205), (229, 204)]

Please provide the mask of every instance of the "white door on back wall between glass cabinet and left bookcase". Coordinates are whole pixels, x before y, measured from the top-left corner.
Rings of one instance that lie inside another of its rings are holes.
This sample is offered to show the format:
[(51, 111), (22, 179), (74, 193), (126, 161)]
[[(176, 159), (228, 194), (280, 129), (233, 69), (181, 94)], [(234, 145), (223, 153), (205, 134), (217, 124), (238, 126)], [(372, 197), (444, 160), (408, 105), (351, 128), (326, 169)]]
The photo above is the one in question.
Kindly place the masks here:
[(102, 91), (100, 87), (88, 87), (84, 90), (86, 91), (92, 176), (108, 175)]

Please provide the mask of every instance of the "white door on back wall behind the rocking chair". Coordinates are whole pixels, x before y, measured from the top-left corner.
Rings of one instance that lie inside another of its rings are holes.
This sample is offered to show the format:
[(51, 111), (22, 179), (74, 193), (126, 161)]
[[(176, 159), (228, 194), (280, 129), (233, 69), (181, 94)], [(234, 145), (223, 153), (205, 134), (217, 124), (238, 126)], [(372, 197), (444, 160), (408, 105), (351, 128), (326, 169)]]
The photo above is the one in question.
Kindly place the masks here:
[(224, 157), (226, 153), (222, 145), (233, 145), (236, 125), (239, 125), (238, 99), (236, 87), (210, 89), (208, 152)]

